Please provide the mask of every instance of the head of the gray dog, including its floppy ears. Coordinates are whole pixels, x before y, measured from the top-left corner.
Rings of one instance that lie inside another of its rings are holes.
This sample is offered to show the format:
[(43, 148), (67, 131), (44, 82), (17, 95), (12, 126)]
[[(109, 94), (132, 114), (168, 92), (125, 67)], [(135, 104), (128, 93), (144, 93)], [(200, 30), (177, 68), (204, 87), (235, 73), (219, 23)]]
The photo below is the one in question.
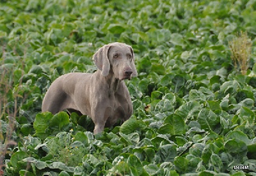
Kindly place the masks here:
[(131, 80), (131, 77), (138, 75), (132, 47), (125, 43), (115, 42), (104, 45), (93, 55), (93, 62), (104, 77), (109, 71), (113, 71), (115, 78), (119, 80)]

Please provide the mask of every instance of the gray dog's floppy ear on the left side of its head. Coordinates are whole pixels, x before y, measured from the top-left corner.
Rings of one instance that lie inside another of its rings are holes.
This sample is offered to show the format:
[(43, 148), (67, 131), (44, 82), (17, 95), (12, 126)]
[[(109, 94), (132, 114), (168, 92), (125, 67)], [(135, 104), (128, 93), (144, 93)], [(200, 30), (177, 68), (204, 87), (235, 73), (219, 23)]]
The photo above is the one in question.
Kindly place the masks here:
[(110, 64), (108, 59), (108, 51), (111, 48), (110, 45), (104, 45), (99, 48), (97, 52), (93, 55), (93, 62), (95, 66), (101, 71), (101, 75), (106, 77), (110, 70)]

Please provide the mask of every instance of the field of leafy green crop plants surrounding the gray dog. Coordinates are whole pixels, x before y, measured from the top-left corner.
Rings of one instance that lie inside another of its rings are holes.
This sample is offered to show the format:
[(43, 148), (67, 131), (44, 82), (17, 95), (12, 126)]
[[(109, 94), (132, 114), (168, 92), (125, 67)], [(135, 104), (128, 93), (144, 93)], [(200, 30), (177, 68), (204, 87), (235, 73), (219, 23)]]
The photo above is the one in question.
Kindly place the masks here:
[[(255, 21), (255, 0), (0, 1), (0, 175), (256, 175)], [(115, 41), (136, 55), (131, 119), (93, 135), (86, 115), (40, 112)]]

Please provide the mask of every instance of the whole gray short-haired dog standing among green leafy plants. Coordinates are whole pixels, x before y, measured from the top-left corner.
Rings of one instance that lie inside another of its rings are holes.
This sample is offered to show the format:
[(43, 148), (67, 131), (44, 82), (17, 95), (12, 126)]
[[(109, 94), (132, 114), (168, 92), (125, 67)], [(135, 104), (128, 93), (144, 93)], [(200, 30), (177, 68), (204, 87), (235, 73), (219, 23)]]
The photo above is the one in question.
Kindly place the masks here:
[(42, 112), (81, 112), (92, 118), (94, 133), (132, 115), (132, 103), (124, 79), (138, 75), (134, 52), (125, 43), (109, 43), (93, 55), (95, 73), (67, 73), (52, 82), (45, 94)]

